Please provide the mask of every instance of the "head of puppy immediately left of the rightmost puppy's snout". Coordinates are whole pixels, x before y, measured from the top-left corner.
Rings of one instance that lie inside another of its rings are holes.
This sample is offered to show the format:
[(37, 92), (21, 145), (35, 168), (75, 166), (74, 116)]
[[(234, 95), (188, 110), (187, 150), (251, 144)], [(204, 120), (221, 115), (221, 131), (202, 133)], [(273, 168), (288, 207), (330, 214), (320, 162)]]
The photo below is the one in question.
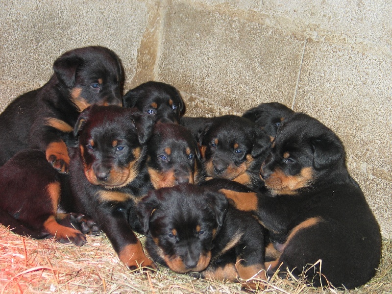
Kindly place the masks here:
[(259, 173), (270, 137), (255, 123), (234, 115), (216, 117), (201, 132), (199, 144), (207, 176), (256, 190), (264, 186)]

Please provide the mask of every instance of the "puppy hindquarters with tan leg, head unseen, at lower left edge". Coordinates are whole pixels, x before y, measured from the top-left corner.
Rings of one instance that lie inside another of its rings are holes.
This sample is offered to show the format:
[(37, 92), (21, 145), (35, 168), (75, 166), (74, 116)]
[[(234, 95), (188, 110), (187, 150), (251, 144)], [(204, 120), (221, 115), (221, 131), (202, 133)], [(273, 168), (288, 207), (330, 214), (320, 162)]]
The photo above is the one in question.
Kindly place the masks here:
[[(75, 245), (86, 243), (84, 235), (57, 221), (70, 215), (57, 213), (60, 174), (37, 149), (19, 151), (0, 167), (0, 223), (19, 235), (51, 238)], [(64, 220), (63, 220), (64, 218)]]

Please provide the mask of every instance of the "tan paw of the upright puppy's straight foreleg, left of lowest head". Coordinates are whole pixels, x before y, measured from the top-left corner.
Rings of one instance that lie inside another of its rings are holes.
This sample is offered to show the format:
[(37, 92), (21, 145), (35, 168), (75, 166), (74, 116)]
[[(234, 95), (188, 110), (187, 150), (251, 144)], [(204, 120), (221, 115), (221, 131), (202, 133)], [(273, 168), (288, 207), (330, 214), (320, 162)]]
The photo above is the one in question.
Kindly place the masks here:
[(129, 268), (151, 267), (155, 268), (153, 262), (144, 254), (142, 244), (124, 246), (119, 252), (120, 260)]

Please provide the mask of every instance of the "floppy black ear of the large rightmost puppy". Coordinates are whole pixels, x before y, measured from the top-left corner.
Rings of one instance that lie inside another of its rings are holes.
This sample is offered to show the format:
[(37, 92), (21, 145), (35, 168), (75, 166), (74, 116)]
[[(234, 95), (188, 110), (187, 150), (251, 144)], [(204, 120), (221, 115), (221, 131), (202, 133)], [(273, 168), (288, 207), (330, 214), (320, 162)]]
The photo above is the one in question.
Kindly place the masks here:
[(344, 147), (340, 140), (331, 134), (322, 134), (312, 138), (313, 166), (316, 170), (322, 170), (336, 164), (344, 157)]

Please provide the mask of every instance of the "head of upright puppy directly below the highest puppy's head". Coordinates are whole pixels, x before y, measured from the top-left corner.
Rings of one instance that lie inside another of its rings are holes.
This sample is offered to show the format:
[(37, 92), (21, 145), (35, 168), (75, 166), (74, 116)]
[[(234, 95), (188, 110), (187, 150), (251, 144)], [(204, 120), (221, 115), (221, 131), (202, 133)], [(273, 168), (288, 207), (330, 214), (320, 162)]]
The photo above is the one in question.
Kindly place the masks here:
[(144, 162), (152, 126), (136, 109), (93, 105), (83, 111), (74, 135), (87, 180), (106, 188), (132, 182)]

